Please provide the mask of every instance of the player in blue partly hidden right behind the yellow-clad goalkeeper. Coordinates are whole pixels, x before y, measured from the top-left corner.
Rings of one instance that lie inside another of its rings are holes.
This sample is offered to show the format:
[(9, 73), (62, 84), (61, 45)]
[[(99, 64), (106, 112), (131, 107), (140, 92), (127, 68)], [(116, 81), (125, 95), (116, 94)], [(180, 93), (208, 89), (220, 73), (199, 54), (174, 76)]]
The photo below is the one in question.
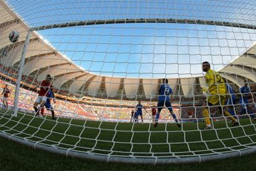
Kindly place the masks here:
[(233, 115), (235, 119), (237, 119), (236, 113), (234, 111), (234, 105), (236, 104), (236, 93), (234, 92), (233, 88), (229, 85), (228, 82), (226, 83), (226, 92), (228, 94), (228, 112), (229, 114)]

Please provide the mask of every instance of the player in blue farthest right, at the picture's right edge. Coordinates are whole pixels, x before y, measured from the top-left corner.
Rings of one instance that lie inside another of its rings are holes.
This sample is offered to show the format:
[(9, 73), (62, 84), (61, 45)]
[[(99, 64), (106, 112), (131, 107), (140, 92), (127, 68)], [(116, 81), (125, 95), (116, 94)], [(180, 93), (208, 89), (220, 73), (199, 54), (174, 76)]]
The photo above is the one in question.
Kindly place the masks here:
[(241, 97), (239, 98), (239, 103), (242, 105), (239, 115), (249, 114), (252, 119), (254, 119), (254, 114), (252, 112), (252, 106), (249, 105), (248, 95), (250, 92), (250, 87), (248, 86), (247, 80), (244, 80), (244, 86), (240, 88)]

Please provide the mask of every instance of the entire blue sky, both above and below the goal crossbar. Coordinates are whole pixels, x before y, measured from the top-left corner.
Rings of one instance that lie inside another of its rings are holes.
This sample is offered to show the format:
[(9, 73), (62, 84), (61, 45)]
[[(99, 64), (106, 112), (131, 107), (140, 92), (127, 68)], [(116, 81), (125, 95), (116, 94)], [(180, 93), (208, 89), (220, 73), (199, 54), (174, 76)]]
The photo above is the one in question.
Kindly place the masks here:
[[(31, 27), (126, 18), (256, 23), (250, 18), (255, 15), (255, 7), (250, 6), (254, 1), (22, 1), (9, 3)], [(39, 33), (85, 70), (136, 78), (198, 76), (205, 60), (218, 70), (256, 40), (255, 30), (181, 23), (90, 25)]]

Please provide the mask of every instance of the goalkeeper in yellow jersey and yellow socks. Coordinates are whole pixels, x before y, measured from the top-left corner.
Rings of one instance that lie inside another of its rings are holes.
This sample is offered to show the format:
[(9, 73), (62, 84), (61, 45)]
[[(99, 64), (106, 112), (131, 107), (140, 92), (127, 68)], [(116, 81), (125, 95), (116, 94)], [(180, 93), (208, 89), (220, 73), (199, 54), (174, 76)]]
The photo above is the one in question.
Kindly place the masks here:
[(203, 62), (202, 64), (203, 72), (205, 74), (205, 80), (208, 86), (207, 88), (203, 88), (203, 91), (209, 93), (207, 100), (203, 103), (203, 117), (205, 118), (206, 127), (203, 130), (212, 129), (211, 127), (211, 120), (210, 120), (210, 113), (208, 107), (206, 106), (219, 106), (218, 109), (220, 114), (228, 117), (232, 120), (233, 126), (239, 125), (236, 119), (229, 114), (227, 111), (223, 111), (223, 106), (226, 99), (226, 83), (224, 82), (223, 78), (220, 76), (218, 72), (210, 69), (209, 62)]

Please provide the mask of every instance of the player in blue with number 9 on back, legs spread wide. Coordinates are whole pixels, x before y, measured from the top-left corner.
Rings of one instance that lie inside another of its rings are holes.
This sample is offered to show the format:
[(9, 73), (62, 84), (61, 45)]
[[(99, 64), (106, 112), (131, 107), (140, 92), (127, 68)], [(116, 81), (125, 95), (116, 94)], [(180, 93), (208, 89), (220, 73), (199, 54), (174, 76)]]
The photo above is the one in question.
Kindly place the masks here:
[(154, 123), (154, 127), (156, 127), (158, 124), (158, 119), (160, 117), (160, 113), (164, 106), (169, 110), (170, 114), (173, 116), (173, 119), (177, 123), (177, 126), (181, 127), (181, 125), (179, 124), (179, 122), (177, 120), (176, 115), (173, 112), (173, 107), (171, 106), (171, 101), (170, 101), (169, 96), (172, 93), (173, 93), (173, 90), (168, 85), (168, 79), (163, 78), (162, 85), (160, 86), (160, 89), (158, 90), (158, 104), (157, 104), (158, 110), (157, 110), (157, 114), (156, 114), (156, 121)]

